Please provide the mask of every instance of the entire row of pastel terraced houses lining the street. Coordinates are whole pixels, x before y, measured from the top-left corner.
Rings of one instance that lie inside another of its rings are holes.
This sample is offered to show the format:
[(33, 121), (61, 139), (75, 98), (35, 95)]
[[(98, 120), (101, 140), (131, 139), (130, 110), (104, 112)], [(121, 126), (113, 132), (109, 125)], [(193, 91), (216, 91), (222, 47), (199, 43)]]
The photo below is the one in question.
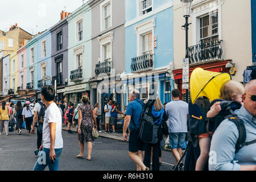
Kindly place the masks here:
[[(196, 67), (229, 72), (226, 64), (232, 63), (233, 80), (243, 82), (245, 69), (255, 75), (255, 1), (194, 0), (191, 8), (189, 73)], [(90, 0), (72, 13), (61, 12), (46, 31), (9, 38), (18, 45), (11, 52), (2, 40), (8, 32), (1, 31), (2, 94), (33, 90), (40, 100), (40, 89), (53, 85), (56, 100), (77, 105), (86, 94), (92, 105), (104, 107), (112, 99), (123, 110), (130, 89), (147, 100), (154, 82), (153, 94), (162, 102), (171, 101), (174, 88), (185, 100), (184, 23), (180, 0)]]

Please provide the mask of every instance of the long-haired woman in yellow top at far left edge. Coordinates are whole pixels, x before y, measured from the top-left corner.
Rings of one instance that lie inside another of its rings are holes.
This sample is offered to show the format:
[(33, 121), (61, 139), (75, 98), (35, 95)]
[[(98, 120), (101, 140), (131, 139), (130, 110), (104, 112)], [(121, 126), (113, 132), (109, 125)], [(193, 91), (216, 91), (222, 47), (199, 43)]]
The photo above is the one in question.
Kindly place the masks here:
[(2, 135), (3, 125), (5, 125), (5, 135), (8, 136), (10, 113), (9, 113), (8, 107), (6, 107), (5, 101), (2, 102), (2, 106), (0, 107), (0, 115), (1, 115), (0, 135)]

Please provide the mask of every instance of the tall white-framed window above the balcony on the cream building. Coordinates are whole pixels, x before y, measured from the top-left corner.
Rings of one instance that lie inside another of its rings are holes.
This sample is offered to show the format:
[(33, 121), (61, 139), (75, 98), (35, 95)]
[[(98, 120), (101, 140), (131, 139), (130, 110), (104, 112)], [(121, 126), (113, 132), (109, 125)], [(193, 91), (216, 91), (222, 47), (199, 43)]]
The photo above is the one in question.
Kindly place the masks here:
[(218, 40), (218, 10), (200, 16), (200, 40), (203, 43)]

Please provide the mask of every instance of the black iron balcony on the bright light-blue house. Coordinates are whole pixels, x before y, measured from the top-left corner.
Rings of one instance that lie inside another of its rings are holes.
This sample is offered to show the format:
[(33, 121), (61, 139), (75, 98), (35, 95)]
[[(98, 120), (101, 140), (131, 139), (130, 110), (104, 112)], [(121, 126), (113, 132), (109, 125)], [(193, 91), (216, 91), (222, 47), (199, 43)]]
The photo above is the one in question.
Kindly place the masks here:
[(131, 59), (131, 72), (145, 71), (154, 68), (154, 55), (148, 53)]

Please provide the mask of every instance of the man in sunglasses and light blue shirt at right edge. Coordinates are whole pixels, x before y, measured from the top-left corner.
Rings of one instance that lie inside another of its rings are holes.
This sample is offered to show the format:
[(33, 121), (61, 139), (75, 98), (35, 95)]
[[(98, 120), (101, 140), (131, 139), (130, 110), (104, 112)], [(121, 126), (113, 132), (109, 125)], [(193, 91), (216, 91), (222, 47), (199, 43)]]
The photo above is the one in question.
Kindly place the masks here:
[(243, 105), (234, 113), (245, 125), (246, 139), (236, 152), (239, 137), (236, 125), (225, 119), (212, 136), (209, 152), (209, 170), (256, 171), (256, 80), (245, 86)]

